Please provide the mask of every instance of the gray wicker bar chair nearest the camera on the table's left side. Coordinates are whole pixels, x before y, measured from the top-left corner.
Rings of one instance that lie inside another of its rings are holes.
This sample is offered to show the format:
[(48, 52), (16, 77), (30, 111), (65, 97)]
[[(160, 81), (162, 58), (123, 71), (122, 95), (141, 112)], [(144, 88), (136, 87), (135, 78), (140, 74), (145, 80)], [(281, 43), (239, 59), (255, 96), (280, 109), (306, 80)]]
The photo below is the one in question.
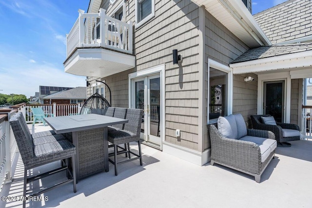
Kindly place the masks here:
[[(19, 147), (20, 155), (24, 164), (24, 188), (23, 196), (26, 196), (26, 185), (35, 180), (42, 179), (49, 175), (58, 173), (60, 171), (66, 171), (68, 178), (63, 182), (57, 183), (49, 188), (40, 188), (39, 191), (32, 191), (30, 196), (38, 196), (46, 191), (57, 188), (61, 185), (65, 185), (73, 182), (74, 192), (76, 193), (76, 170), (75, 170), (75, 154), (76, 147), (66, 139), (56, 140), (57, 138), (62, 138), (61, 135), (54, 137), (53, 135), (48, 135), (46, 137), (36, 140), (34, 145), (34, 140), (27, 126), (23, 125), (23, 115), (22, 113), (16, 113), (10, 119), (10, 126), (12, 127), (17, 145)], [(44, 139), (46, 138), (46, 139)], [(49, 140), (49, 141), (48, 141)], [(68, 167), (69, 159), (72, 159), (72, 171)], [(39, 175), (27, 176), (27, 170), (31, 170), (35, 167), (39, 167), (44, 164), (52, 163), (55, 161), (66, 159), (66, 167), (60, 167), (55, 170), (51, 170)], [(23, 207), (26, 206), (26, 201), (23, 201)]]

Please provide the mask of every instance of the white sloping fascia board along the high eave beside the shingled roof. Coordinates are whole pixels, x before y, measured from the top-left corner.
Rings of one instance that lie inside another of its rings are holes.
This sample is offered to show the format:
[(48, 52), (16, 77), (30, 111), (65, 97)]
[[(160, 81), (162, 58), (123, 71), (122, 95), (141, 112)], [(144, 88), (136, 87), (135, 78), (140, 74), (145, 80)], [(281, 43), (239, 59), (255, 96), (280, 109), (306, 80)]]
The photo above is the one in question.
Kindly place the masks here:
[[(259, 44), (270, 46), (272, 45), (269, 38), (265, 35), (258, 23), (254, 20), (252, 14), (248, 11), (242, 0), (219, 0), (224, 6), (226, 4), (233, 7), (233, 13), (238, 17), (235, 18), (244, 29), (255, 39)], [(226, 6), (227, 7), (227, 6)], [(228, 8), (229, 9), (229, 8)], [(239, 18), (241, 17), (241, 18)]]

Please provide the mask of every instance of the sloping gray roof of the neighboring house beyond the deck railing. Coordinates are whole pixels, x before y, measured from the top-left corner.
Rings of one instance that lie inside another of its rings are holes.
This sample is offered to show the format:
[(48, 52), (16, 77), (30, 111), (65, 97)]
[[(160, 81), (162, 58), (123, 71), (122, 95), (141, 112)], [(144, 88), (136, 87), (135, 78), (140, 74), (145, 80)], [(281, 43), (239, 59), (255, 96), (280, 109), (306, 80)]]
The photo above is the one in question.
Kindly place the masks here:
[(87, 88), (76, 87), (70, 90), (60, 91), (46, 95), (42, 99), (87, 99)]

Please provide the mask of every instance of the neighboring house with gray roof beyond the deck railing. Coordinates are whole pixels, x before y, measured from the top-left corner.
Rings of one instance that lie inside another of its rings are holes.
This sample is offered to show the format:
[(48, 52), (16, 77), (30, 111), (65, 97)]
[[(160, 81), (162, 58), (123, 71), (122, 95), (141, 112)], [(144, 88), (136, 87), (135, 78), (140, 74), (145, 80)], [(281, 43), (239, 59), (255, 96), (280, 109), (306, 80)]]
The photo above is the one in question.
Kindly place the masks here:
[(83, 103), (87, 99), (87, 88), (76, 87), (69, 90), (63, 90), (51, 95), (42, 97), (44, 104), (77, 104)]

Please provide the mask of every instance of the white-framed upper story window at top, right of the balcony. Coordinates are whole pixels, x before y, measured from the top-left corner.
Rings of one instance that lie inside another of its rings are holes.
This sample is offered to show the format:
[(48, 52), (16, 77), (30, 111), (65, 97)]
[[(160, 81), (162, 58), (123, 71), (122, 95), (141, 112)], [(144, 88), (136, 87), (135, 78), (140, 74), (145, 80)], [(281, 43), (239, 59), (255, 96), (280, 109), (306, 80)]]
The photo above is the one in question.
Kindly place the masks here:
[(155, 16), (155, 0), (136, 0), (137, 27)]

